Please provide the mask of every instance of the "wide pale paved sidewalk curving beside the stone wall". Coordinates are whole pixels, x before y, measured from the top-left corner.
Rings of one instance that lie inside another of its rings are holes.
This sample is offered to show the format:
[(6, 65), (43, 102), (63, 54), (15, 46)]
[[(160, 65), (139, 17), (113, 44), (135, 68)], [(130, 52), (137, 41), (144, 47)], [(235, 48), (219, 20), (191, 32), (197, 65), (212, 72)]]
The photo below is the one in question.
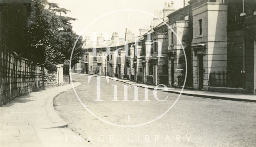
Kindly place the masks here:
[[(74, 87), (81, 85), (74, 82)], [(58, 94), (72, 85), (54, 87), (16, 97), (0, 107), (1, 147), (88, 147), (90, 143), (67, 128), (53, 107)]]

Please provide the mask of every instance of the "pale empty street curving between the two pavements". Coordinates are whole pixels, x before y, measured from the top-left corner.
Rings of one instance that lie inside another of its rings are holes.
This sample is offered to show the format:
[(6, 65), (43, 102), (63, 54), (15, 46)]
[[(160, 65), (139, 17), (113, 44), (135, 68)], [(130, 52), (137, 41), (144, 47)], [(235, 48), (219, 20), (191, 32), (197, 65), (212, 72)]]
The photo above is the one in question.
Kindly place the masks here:
[[(181, 95), (170, 111), (148, 123), (165, 113), (178, 94), (157, 91), (157, 100), (153, 90), (148, 89), (145, 101), (144, 88), (139, 87), (138, 100), (134, 101), (134, 87), (130, 86), (128, 100), (124, 101), (127, 84), (112, 79), (107, 82), (101, 77), (101, 101), (95, 101), (97, 77), (91, 77), (90, 83), (85, 75), (72, 75), (72, 78), (82, 83), (75, 88), (82, 103), (108, 123), (83, 107), (73, 89), (54, 99), (55, 109), (70, 129), (96, 147), (256, 146), (255, 103)], [(146, 125), (140, 125), (143, 123)], [(123, 127), (127, 125), (134, 127)]]

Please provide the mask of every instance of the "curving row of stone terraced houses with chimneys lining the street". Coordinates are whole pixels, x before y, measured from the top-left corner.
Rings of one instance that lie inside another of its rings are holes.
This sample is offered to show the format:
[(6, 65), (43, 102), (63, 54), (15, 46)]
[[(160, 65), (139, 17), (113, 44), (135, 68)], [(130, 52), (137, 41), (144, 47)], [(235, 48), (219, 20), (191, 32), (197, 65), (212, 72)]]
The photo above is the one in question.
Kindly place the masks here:
[(169, 87), (256, 93), (255, 0), (184, 0), (178, 10), (166, 2), (155, 16), (138, 37), (126, 29), (119, 42), (113, 33), (106, 41), (106, 58), (107, 48), (100, 44), (93, 58), (92, 43), (86, 41), (88, 52), (81, 61), (85, 73)]

